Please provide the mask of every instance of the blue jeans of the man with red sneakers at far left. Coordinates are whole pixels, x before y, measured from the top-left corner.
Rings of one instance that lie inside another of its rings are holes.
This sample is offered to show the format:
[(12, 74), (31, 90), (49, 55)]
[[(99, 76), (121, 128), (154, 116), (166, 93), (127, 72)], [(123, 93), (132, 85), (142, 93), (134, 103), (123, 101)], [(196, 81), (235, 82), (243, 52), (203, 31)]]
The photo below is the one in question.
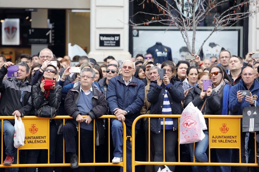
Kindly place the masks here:
[[(2, 121), (0, 121), (0, 130), (2, 130)], [(14, 156), (13, 164), (17, 163), (17, 149), (13, 146), (13, 135), (15, 134), (15, 127), (10, 121), (4, 120), (3, 135), (5, 143), (5, 154)], [(10, 172), (18, 171), (19, 168), (9, 168)]]

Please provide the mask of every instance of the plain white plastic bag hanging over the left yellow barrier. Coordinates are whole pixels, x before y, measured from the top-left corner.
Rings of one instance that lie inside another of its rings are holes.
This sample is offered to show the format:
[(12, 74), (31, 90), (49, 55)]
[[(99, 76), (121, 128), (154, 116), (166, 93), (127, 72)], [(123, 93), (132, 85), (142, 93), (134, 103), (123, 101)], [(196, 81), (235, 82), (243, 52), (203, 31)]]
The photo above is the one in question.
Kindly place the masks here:
[(25, 139), (25, 128), (23, 121), (21, 121), (21, 117), (19, 117), (19, 120), (17, 120), (17, 117), (15, 115), (15, 134), (13, 135), (13, 146), (15, 148), (19, 148), (24, 145), (24, 139)]

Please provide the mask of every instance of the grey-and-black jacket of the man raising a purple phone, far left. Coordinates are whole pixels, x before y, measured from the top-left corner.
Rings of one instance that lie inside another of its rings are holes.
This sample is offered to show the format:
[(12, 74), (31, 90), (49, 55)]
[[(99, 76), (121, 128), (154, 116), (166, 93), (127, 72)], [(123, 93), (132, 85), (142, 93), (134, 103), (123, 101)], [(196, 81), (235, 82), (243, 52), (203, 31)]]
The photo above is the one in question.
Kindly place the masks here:
[[(29, 115), (32, 108), (31, 83), (21, 81), (15, 77), (3, 79), (7, 69), (3, 66), (0, 70), (0, 115), (12, 116), (18, 110), (22, 116)], [(9, 120), (13, 125), (15, 120)]]

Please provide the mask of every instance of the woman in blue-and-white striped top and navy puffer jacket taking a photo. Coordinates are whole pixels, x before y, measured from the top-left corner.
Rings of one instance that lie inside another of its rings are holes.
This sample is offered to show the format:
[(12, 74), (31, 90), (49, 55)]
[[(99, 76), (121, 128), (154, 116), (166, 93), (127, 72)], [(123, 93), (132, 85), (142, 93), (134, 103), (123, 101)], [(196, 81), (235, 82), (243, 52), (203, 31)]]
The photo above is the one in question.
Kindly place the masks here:
[[(181, 101), (184, 99), (183, 84), (181, 81), (172, 79), (175, 75), (174, 64), (171, 61), (162, 63), (161, 68), (166, 70), (163, 78), (157, 75), (156, 81), (151, 81), (147, 100), (151, 103), (149, 114), (181, 114), (183, 111)], [(175, 147), (178, 140), (178, 118), (150, 118), (150, 133), (153, 136), (155, 156), (154, 161), (163, 161), (163, 132), (165, 132), (165, 153), (167, 162), (175, 162)], [(165, 130), (163, 130), (165, 127)], [(148, 119), (145, 122), (148, 129)], [(148, 130), (147, 130), (148, 131)], [(163, 168), (155, 165), (155, 171)], [(174, 171), (175, 166), (168, 166)]]

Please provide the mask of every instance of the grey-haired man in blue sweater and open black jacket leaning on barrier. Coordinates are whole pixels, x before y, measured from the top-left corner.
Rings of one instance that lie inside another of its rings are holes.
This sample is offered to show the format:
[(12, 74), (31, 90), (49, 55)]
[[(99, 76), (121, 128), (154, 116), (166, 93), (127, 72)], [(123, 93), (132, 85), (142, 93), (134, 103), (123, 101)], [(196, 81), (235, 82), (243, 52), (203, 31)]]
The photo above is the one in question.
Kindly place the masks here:
[[(66, 144), (66, 152), (70, 154), (70, 167), (78, 167), (76, 155), (75, 137), (80, 123), (80, 162), (93, 162), (93, 121), (105, 114), (107, 100), (105, 96), (91, 85), (95, 77), (93, 69), (85, 68), (80, 72), (80, 84), (69, 90), (65, 109), (73, 120), (68, 120), (63, 127), (63, 136)], [(82, 115), (88, 115), (83, 118)], [(85, 122), (84, 122), (85, 120)], [(103, 120), (95, 120), (95, 144), (98, 146), (104, 142)], [(94, 167), (82, 167), (84, 171), (94, 171)]]

